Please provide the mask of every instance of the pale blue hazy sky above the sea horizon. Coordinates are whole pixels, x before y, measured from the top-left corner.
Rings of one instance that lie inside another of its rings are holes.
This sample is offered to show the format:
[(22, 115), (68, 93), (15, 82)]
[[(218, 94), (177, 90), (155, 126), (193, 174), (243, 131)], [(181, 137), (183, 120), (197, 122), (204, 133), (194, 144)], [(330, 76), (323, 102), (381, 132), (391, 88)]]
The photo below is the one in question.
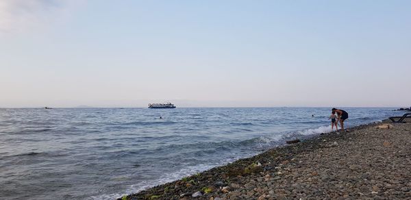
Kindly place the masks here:
[(411, 106), (411, 1), (0, 0), (0, 108)]

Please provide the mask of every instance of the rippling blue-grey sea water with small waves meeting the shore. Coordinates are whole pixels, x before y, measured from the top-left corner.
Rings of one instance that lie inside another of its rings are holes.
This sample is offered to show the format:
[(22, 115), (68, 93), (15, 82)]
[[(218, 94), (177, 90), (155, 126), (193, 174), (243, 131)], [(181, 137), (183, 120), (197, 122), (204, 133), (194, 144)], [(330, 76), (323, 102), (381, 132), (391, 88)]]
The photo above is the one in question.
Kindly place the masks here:
[[(399, 114), (393, 108), (341, 109), (349, 113), (347, 127)], [(285, 140), (329, 132), (330, 113), (331, 108), (0, 109), (0, 199), (115, 199)]]

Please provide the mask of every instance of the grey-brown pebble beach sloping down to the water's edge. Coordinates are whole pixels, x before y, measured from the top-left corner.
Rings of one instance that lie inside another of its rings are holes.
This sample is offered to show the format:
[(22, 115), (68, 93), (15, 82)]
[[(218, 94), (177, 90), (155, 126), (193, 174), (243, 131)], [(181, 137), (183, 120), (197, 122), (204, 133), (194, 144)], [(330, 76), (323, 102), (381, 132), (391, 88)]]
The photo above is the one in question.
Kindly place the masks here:
[(411, 123), (360, 125), (119, 199), (411, 199), (410, 137)]

